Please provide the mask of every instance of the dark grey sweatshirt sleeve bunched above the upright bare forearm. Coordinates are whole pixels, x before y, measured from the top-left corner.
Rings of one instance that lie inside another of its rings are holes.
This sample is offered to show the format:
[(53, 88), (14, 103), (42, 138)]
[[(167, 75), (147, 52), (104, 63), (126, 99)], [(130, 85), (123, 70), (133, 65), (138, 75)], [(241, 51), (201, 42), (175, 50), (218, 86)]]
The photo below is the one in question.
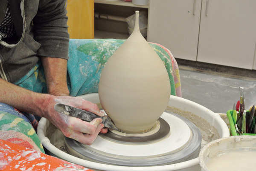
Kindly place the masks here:
[(34, 39), (41, 44), (37, 54), (68, 59), (66, 0), (40, 0), (34, 17)]

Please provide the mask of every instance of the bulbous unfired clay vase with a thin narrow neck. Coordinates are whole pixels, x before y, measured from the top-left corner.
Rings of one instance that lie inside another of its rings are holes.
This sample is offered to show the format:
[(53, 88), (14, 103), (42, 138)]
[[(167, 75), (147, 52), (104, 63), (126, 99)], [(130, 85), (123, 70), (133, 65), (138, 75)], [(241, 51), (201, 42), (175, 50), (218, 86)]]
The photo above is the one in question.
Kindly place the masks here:
[(166, 68), (139, 29), (139, 11), (131, 36), (109, 58), (99, 80), (99, 100), (119, 131), (149, 131), (170, 99)]

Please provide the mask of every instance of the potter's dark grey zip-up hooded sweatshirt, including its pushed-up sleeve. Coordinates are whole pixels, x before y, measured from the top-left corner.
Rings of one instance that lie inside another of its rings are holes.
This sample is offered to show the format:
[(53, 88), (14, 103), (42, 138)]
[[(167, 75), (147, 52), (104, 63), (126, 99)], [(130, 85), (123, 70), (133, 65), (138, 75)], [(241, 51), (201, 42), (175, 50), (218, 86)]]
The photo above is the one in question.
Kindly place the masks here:
[(66, 0), (8, 1), (16, 36), (0, 40), (2, 79), (15, 83), (40, 56), (68, 59)]

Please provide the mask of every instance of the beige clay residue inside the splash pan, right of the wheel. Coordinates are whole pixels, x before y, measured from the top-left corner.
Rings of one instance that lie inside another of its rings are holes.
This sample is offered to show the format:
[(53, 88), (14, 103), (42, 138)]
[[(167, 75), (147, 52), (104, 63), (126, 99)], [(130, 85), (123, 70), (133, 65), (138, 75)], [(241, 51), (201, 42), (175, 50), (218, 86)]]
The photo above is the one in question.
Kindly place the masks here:
[(175, 108), (172, 106), (167, 106), (166, 111), (178, 114), (194, 123), (199, 128), (202, 139), (204, 141), (211, 142), (220, 138), (218, 130), (214, 126), (212, 126), (207, 120), (204, 120), (202, 117), (199, 117), (198, 115), (190, 111), (184, 111), (180, 108)]

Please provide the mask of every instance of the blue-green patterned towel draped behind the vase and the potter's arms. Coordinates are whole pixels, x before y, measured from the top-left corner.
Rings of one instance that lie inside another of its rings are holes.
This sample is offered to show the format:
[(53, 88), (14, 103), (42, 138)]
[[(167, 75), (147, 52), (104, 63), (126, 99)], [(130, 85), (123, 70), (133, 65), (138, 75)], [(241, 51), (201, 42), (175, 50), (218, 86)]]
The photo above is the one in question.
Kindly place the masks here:
[[(124, 41), (116, 39), (70, 40), (67, 63), (67, 83), (70, 96), (98, 92), (99, 78), (105, 63)], [(176, 95), (171, 58), (168, 58), (168, 53), (161, 46), (154, 43), (150, 43), (150, 45), (163, 60), (170, 78), (171, 94)], [(47, 93), (44, 69), (41, 63), (38, 63), (15, 84), (38, 93)]]

